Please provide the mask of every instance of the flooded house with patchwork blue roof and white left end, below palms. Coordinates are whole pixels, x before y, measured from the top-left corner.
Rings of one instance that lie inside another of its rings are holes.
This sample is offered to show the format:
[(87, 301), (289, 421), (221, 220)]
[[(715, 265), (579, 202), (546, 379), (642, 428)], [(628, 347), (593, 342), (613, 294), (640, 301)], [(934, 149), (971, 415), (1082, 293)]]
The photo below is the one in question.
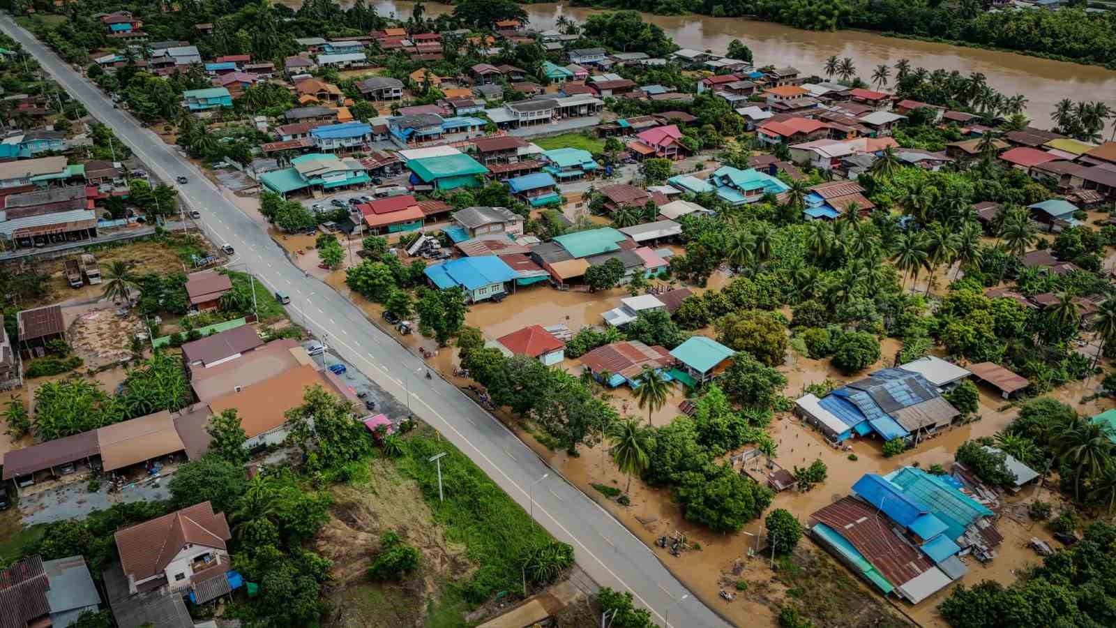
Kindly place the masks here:
[(875, 434), (885, 441), (902, 438), (908, 444), (961, 416), (925, 377), (903, 369), (875, 371), (821, 399), (801, 397), (795, 413), (834, 443)]

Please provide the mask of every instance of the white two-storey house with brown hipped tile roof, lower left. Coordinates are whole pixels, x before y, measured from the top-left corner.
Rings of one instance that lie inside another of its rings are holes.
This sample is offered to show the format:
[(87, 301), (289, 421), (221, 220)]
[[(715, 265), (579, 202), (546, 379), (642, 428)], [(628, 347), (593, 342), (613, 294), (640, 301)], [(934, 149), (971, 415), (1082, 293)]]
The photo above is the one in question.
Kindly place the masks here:
[(165, 514), (116, 532), (116, 550), (132, 594), (152, 586), (183, 591), (211, 570), (232, 569), (232, 539), (224, 513), (209, 502)]

